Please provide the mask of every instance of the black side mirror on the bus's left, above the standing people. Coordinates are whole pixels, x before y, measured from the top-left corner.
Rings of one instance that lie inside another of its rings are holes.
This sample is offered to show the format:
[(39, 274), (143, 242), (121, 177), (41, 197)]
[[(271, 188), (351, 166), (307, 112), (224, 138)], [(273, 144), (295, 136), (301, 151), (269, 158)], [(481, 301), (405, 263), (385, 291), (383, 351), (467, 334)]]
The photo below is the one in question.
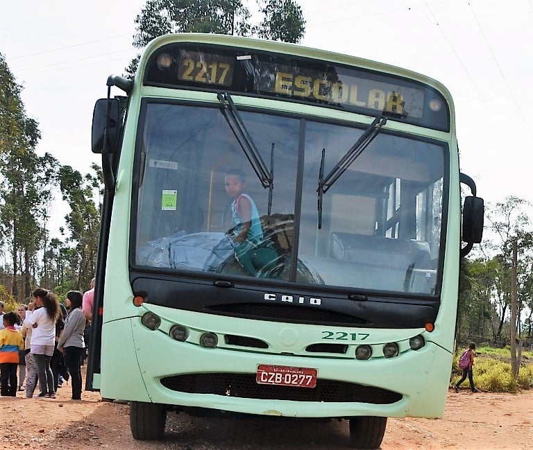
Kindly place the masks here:
[[(119, 99), (99, 98), (92, 113), (92, 153), (113, 153), (113, 150), (117, 148), (119, 124)], [(104, 148), (104, 144), (106, 148)]]

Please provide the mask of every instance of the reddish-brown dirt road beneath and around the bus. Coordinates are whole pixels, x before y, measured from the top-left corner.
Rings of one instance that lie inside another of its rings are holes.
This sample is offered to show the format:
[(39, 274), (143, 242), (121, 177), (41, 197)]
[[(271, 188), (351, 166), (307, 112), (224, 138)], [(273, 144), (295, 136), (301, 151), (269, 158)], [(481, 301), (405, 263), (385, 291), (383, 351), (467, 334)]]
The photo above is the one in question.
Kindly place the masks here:
[[(345, 450), (347, 422), (197, 418), (170, 413), (165, 439), (131, 438), (129, 407), (70, 387), (57, 399), (0, 397), (0, 448), (94, 450)], [(19, 392), (19, 395), (22, 392)], [(442, 419), (389, 419), (382, 450), (533, 449), (533, 391), (518, 395), (450, 391)]]

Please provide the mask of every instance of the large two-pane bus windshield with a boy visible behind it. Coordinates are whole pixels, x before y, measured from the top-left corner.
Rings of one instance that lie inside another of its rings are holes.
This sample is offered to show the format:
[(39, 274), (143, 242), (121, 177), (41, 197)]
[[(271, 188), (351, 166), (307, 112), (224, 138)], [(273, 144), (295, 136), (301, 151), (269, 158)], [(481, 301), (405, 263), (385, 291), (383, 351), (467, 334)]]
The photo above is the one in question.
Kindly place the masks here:
[(321, 173), (339, 164), (369, 123), (355, 128), (244, 108), (239, 118), (271, 185), (221, 105), (144, 101), (134, 266), (438, 294), (445, 143), (380, 130), (319, 192)]

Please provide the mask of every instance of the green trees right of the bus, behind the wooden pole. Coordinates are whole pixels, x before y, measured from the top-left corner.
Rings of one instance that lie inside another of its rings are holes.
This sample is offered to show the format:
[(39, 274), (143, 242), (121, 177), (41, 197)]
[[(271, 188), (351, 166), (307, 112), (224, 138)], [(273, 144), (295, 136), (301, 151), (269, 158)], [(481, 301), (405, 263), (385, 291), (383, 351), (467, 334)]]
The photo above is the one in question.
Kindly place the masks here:
[(527, 200), (509, 196), (485, 207), (485, 230), (475, 259), (464, 259), (459, 283), (457, 340), (509, 344), (512, 244), (518, 243), (516, 329), (533, 336), (533, 232)]

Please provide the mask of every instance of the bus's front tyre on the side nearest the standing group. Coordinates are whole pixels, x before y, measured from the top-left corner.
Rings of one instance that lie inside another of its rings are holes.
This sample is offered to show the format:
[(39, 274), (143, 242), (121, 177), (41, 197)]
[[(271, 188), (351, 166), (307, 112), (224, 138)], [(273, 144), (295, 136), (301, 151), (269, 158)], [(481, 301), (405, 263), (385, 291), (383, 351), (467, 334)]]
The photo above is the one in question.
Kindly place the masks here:
[(161, 439), (166, 423), (167, 410), (164, 405), (130, 401), (130, 429), (134, 439)]

